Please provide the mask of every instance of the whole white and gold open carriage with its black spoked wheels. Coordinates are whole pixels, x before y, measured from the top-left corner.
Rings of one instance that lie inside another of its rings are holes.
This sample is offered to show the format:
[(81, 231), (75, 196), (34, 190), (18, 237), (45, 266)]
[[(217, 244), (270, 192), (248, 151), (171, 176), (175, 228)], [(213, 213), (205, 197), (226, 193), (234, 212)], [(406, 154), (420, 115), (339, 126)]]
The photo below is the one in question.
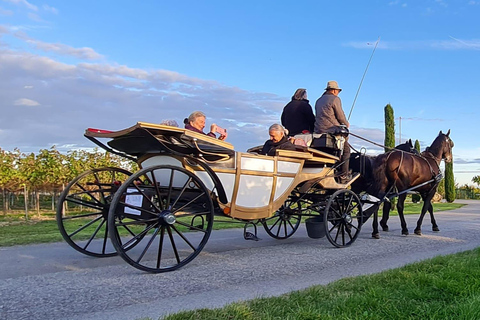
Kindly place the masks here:
[(338, 183), (339, 158), (316, 149), (297, 146), (273, 157), (237, 152), (206, 135), (143, 122), (120, 131), (87, 129), (85, 137), (140, 167), (92, 169), (62, 192), (60, 232), (87, 255), (118, 253), (138, 269), (165, 272), (192, 261), (217, 221), (243, 223), (245, 239), (257, 239), (257, 225), (286, 239), (307, 218), (310, 237), (326, 235), (345, 247), (366, 219), (364, 200), (349, 188), (359, 174)]

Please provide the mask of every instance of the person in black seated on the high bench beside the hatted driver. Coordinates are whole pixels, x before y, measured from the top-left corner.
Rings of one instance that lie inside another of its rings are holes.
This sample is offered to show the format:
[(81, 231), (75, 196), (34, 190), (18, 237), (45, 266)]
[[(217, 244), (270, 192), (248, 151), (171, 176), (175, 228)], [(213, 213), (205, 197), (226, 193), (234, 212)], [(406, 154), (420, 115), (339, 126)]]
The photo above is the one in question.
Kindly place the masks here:
[(297, 89), (295, 94), (284, 108), (281, 116), (282, 125), (290, 136), (301, 133), (313, 133), (315, 115), (312, 106), (307, 100), (307, 90)]

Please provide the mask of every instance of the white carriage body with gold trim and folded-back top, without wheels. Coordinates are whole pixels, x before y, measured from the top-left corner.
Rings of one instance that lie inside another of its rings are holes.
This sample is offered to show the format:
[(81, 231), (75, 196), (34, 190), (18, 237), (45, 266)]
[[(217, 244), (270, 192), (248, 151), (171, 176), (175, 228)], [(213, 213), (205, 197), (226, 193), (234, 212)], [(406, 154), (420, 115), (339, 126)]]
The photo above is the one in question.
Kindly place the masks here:
[[(307, 147), (299, 146), (299, 151), (277, 150), (275, 156), (236, 152), (233, 146), (225, 141), (186, 129), (143, 122), (121, 131), (87, 131), (85, 135), (117, 139), (121, 143), (112, 140), (111, 142), (114, 143), (109, 142), (109, 145), (113, 145), (116, 150), (136, 155), (137, 163), (142, 169), (157, 165), (171, 165), (194, 172), (218, 197), (219, 190), (212, 180), (211, 173), (198, 163), (189, 161), (187, 154), (183, 156), (178, 152), (159, 152), (154, 148), (151, 149), (150, 146), (146, 148), (134, 145), (135, 141), (139, 141), (139, 137), (134, 136), (133, 133), (139, 129), (150, 133), (151, 137), (157, 139), (162, 145), (168, 144), (172, 148), (190, 143), (191, 146), (195, 146), (195, 151), (199, 152), (200, 160), (205, 160), (204, 158), (209, 155), (218, 157), (205, 162), (220, 180), (226, 195), (226, 202), (218, 201), (218, 204), (224, 214), (233, 218), (253, 220), (272, 216), (292, 190), (305, 181), (315, 180), (323, 189), (345, 187), (334, 180), (332, 166), (338, 158)], [(178, 138), (179, 135), (181, 139)], [(148, 140), (151, 137), (146, 136), (144, 139)], [(122, 139), (125, 141), (130, 139), (133, 142), (124, 143)], [(211, 153), (204, 149), (205, 145), (214, 146), (217, 149)], [(167, 176), (155, 178), (162, 183)], [(181, 187), (187, 178), (177, 176), (175, 179), (174, 185)]]

